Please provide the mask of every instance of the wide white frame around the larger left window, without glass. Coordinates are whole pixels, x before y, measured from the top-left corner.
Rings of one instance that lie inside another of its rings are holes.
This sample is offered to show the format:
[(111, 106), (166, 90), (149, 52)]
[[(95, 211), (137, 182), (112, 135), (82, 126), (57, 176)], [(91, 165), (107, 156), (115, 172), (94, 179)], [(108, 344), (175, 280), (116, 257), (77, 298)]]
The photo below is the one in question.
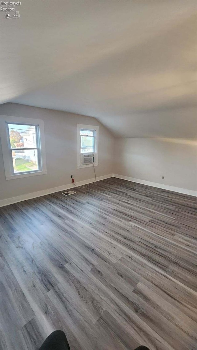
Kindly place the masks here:
[[(39, 140), (37, 148), (40, 152), (39, 170), (33, 170), (32, 172), (13, 173), (13, 162), (10, 156), (10, 141), (8, 133), (8, 124), (25, 124), (35, 125), (39, 127)], [(45, 140), (44, 140), (44, 121), (41, 119), (12, 117), (12, 116), (0, 116), (0, 138), (3, 153), (3, 163), (5, 169), (6, 180), (19, 179), (20, 177), (28, 177), (35, 175), (47, 174), (47, 162), (45, 153)]]

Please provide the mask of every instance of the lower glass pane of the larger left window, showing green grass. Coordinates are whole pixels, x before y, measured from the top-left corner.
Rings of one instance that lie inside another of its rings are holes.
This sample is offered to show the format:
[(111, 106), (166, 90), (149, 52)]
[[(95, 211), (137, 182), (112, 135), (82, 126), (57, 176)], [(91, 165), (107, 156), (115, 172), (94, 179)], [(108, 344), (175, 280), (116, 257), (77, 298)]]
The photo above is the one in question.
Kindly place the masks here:
[(22, 149), (12, 151), (14, 173), (39, 170), (37, 149)]

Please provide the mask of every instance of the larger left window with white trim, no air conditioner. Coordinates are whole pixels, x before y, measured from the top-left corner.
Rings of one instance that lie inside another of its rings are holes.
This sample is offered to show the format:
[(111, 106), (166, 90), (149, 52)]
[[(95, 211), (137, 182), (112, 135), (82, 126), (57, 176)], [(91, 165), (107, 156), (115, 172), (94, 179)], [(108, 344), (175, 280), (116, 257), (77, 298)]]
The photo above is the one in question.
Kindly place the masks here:
[(43, 120), (2, 116), (0, 136), (6, 180), (47, 173)]

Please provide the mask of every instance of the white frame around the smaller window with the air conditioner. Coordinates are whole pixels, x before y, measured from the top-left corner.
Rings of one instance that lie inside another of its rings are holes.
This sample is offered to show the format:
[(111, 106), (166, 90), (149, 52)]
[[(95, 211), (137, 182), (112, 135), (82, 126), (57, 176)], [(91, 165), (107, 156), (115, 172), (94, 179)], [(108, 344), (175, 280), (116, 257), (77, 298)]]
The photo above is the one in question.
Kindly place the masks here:
[[(94, 162), (93, 164), (80, 164), (80, 130), (95, 130), (94, 140)], [(88, 168), (98, 165), (98, 141), (99, 141), (99, 127), (95, 125), (77, 124), (77, 168)]]

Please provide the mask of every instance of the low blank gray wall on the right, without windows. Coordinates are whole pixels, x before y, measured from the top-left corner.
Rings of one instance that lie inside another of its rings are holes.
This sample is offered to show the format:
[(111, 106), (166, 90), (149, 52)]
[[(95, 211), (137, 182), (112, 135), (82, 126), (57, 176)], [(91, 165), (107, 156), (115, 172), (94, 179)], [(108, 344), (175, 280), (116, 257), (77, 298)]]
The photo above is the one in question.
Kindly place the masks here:
[(115, 174), (197, 190), (197, 139), (118, 138), (115, 144)]

